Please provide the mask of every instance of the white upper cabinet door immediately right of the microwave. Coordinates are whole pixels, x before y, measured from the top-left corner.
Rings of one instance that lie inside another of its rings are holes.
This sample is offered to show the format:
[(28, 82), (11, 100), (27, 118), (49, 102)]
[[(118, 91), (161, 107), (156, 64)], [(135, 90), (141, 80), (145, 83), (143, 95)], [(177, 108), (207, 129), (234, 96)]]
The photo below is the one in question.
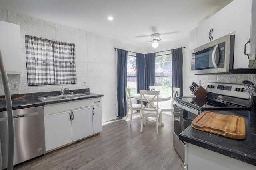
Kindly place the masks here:
[[(252, 0), (236, 1), (236, 35), (233, 68), (248, 68), (249, 58), (244, 55), (244, 45), (249, 41), (251, 31)], [(246, 47), (249, 54), (250, 45)]]

